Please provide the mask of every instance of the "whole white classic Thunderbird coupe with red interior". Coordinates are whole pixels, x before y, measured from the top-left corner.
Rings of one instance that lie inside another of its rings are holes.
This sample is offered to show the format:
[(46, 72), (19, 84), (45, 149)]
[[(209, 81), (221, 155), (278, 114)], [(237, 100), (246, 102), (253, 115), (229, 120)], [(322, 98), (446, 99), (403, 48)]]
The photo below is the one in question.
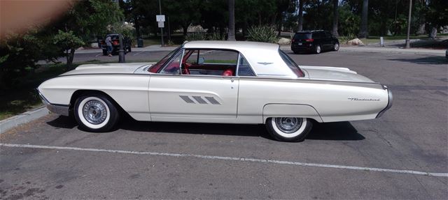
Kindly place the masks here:
[(193, 41), (158, 63), (78, 66), (38, 86), (48, 109), (106, 132), (137, 121), (265, 124), (279, 141), (302, 141), (313, 122), (378, 118), (384, 85), (348, 68), (297, 66), (279, 45)]

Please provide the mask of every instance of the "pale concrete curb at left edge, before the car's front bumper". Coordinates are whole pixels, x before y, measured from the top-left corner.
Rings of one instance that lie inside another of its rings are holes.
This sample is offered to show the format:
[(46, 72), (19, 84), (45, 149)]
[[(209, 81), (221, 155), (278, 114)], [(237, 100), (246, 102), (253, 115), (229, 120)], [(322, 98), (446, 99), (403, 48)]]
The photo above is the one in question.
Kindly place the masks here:
[(38, 107), (34, 110), (26, 111), (22, 114), (12, 116), (10, 118), (0, 121), (0, 134), (10, 130), (11, 128), (18, 127), (24, 123), (29, 123), (37, 118), (41, 118), (47, 115), (50, 111), (45, 106)]

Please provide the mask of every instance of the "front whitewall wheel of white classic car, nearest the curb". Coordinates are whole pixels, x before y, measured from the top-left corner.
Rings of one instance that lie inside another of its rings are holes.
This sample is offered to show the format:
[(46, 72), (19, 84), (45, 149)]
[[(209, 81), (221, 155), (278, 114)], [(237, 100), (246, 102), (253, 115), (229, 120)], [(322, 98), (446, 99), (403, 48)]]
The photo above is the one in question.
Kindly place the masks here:
[(74, 116), (81, 129), (106, 132), (118, 121), (118, 110), (104, 95), (83, 95), (75, 102)]

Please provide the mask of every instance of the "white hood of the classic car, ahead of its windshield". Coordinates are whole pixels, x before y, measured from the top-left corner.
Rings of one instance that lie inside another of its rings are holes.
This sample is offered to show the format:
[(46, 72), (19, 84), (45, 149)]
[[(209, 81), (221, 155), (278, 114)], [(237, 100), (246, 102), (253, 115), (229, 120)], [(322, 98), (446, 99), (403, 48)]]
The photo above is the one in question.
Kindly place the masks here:
[(62, 75), (87, 74), (133, 74), (138, 68), (144, 68), (148, 63), (103, 63), (81, 65)]

